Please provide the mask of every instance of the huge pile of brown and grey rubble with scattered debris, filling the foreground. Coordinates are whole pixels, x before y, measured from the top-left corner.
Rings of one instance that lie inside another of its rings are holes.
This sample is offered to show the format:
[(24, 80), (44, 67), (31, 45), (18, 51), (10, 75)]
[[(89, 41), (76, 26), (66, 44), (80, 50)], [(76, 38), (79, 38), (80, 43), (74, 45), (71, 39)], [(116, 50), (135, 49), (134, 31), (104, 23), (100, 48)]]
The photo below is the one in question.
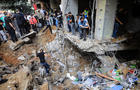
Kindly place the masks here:
[[(54, 27), (53, 27), (54, 28)], [(56, 32), (53, 30), (53, 32)], [(87, 53), (64, 38), (40, 32), (16, 51), (2, 45), (1, 90), (131, 90), (140, 88), (138, 61), (119, 63), (115, 57)], [(4, 50), (5, 49), (5, 50)], [(50, 73), (40, 65), (36, 50), (44, 49)], [(3, 53), (2, 53), (3, 52)], [(8, 56), (11, 54), (10, 56)], [(5, 63), (4, 63), (4, 62)], [(9, 63), (8, 63), (9, 62)]]

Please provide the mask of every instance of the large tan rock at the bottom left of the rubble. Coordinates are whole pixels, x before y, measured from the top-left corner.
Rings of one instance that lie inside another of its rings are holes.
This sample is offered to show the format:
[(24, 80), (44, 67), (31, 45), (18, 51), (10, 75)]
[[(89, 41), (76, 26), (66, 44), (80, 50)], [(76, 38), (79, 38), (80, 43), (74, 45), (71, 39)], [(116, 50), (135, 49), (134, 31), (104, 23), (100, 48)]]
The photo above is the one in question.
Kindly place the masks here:
[(28, 90), (28, 86), (32, 80), (32, 76), (29, 72), (30, 70), (28, 67), (23, 67), (17, 73), (10, 76), (8, 81), (4, 84), (10, 88), (16, 88), (16, 86), (18, 86), (19, 90)]

